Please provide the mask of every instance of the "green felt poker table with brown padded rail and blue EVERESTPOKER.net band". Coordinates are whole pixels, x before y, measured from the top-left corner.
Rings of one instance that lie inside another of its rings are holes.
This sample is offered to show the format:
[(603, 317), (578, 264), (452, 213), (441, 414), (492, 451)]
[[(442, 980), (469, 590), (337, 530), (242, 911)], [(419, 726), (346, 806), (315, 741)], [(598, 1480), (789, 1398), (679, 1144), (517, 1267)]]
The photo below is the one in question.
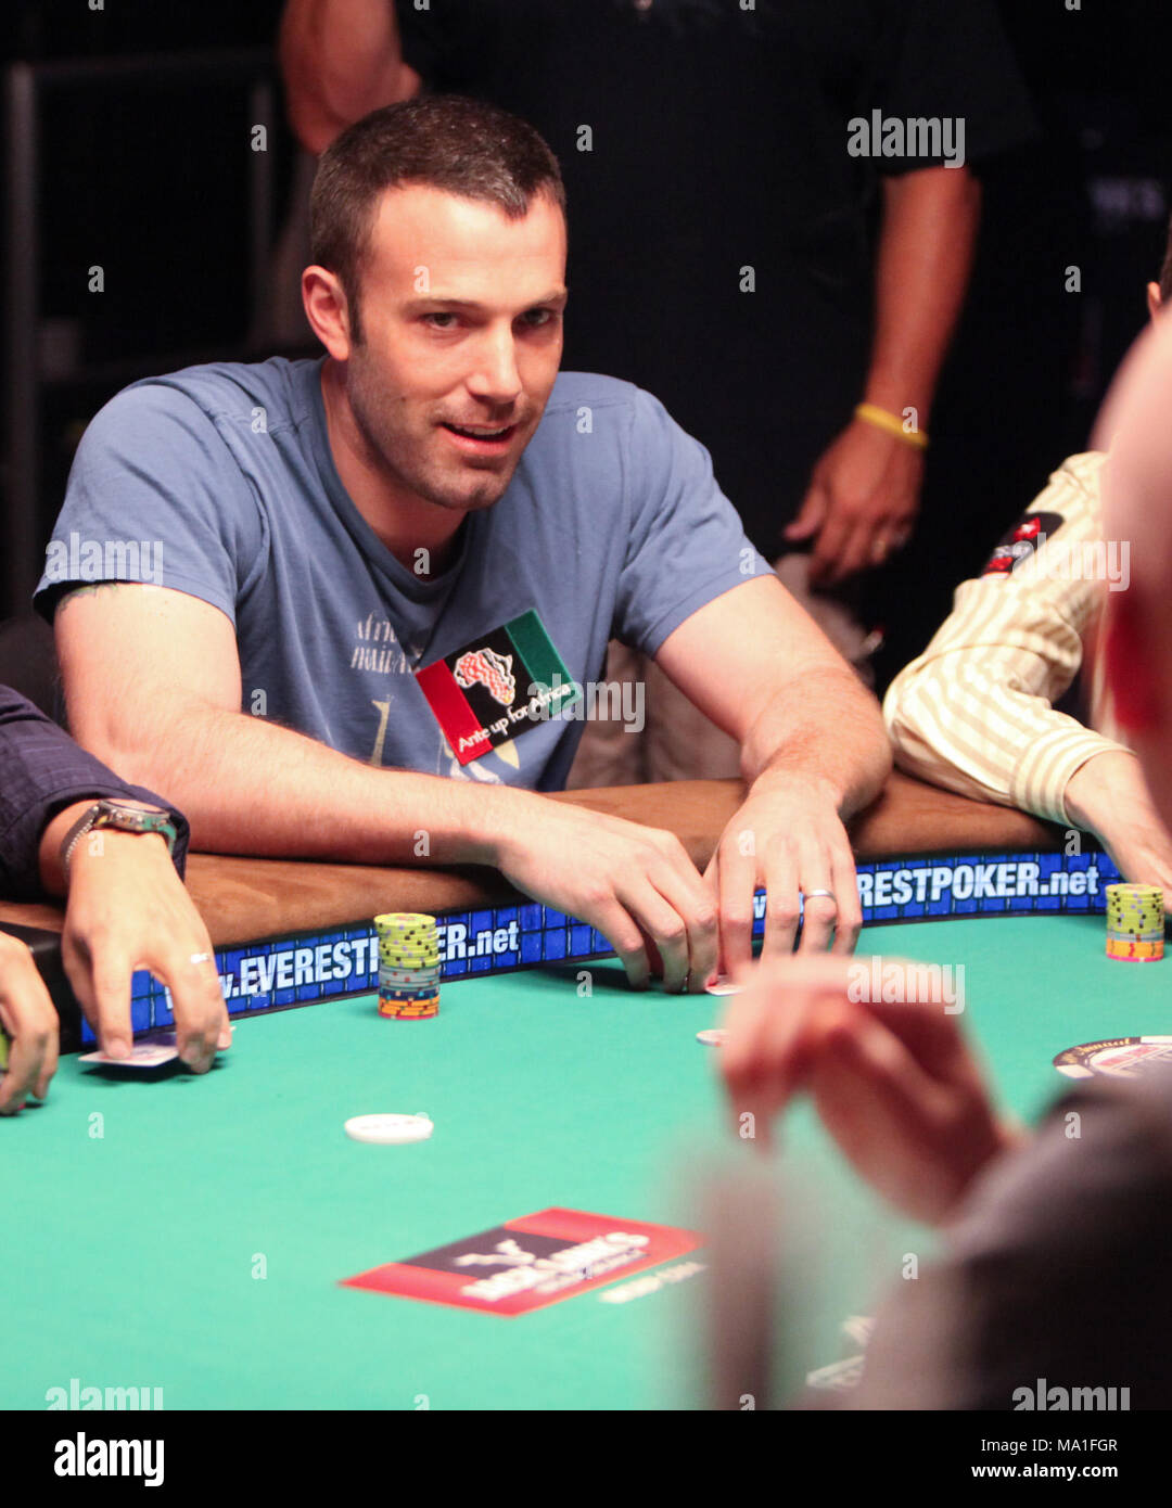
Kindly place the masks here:
[[(555, 799), (671, 828), (704, 864), (739, 796), (700, 781)], [(1172, 1031), (1164, 965), (1104, 955), (1116, 875), (1092, 846), (1071, 854), (1068, 834), (899, 775), (851, 837), (860, 959), (940, 965), (1009, 1110), (1029, 1119), (1063, 1087), (1051, 1060), (1072, 1044)], [(719, 1050), (695, 1036), (723, 1001), (630, 992), (597, 956), (605, 939), (486, 872), (193, 855), (189, 887), (232, 991), (234, 1045), (204, 1077), (66, 1056), (48, 1101), (0, 1125), (0, 1407), (112, 1407), (130, 1389), (167, 1410), (710, 1401), (704, 1208), (760, 1161), (723, 1102)], [(359, 942), (388, 909), (440, 921), (434, 1019), (386, 1021), (364, 986)], [(0, 926), (33, 942), (69, 1018), (60, 912), (3, 906)], [(148, 980), (136, 1024), (166, 1021)], [(345, 1136), (380, 1111), (422, 1111), (434, 1129), (404, 1146)], [(772, 1167), (795, 1199), (821, 1200), (808, 1220), (839, 1243), (795, 1350), (804, 1375), (851, 1350), (842, 1321), (929, 1247), (867, 1206), (843, 1258), (860, 1190), (804, 1107)], [(545, 1289), (513, 1285), (513, 1268), (567, 1246), (587, 1253), (581, 1270), (549, 1256)], [(373, 1288), (345, 1282), (370, 1273)]]

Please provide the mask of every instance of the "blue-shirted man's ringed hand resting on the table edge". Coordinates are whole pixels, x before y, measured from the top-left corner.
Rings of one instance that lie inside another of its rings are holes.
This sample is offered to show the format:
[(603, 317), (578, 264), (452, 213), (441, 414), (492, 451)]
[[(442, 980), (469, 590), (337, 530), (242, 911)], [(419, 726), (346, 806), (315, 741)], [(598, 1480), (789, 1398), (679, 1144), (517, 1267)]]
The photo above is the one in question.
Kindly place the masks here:
[[(834, 795), (818, 781), (766, 771), (721, 834), (704, 881), (719, 905), (727, 973), (753, 956), (753, 891), (765, 885), (762, 958), (793, 952), (805, 896), (802, 952), (852, 953), (863, 926), (855, 861)], [(830, 894), (825, 894), (825, 893)]]

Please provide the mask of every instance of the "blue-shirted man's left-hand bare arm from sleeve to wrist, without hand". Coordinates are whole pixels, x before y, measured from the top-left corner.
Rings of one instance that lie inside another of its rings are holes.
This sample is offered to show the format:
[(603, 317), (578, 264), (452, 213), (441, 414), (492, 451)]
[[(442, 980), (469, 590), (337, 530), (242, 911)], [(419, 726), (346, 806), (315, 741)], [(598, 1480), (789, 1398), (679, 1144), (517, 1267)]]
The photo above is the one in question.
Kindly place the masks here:
[[(78, 743), (124, 778), (149, 772), (151, 789), (186, 811), (195, 847), (371, 864), (492, 863), (489, 808), (508, 820), (516, 802), (540, 799), (374, 769), (240, 712), (232, 624), (198, 597), (161, 587), (81, 588), (59, 605), (56, 636)], [(427, 855), (415, 854), (419, 829), (428, 834)]]

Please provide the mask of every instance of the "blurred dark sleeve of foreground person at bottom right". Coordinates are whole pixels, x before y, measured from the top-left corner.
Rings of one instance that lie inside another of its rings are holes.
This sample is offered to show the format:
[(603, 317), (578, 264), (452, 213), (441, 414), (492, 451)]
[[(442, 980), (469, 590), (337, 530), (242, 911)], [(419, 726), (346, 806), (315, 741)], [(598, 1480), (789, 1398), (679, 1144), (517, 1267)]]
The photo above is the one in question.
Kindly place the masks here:
[(1097, 1078), (985, 1172), (940, 1261), (881, 1306), (855, 1407), (1036, 1408), (1051, 1386), (1172, 1407), (1169, 1090), (1167, 1069)]

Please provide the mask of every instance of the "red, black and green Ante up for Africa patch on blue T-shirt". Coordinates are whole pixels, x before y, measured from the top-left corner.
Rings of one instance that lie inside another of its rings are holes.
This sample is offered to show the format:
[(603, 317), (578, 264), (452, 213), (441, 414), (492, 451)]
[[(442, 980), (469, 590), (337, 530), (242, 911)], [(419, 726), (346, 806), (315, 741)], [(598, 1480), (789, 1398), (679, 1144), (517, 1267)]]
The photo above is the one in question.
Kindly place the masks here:
[(548, 722), (582, 695), (532, 608), (416, 670), (415, 679), (462, 765)]

